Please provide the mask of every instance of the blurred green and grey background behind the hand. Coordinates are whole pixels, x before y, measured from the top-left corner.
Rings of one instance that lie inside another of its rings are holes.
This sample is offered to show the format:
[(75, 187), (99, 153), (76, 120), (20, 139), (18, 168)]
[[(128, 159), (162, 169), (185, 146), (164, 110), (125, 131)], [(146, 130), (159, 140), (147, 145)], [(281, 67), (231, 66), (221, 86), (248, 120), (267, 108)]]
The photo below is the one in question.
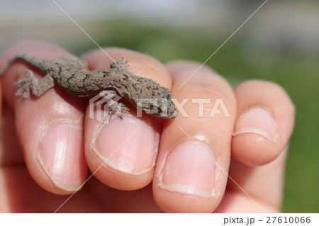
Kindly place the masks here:
[[(96, 43), (159, 61), (204, 62), (264, 0), (56, 0)], [(319, 2), (269, 0), (206, 64), (233, 86), (274, 81), (296, 105), (284, 213), (319, 213)], [(74, 55), (96, 48), (52, 0), (0, 0), (0, 53), (18, 40), (57, 43)]]

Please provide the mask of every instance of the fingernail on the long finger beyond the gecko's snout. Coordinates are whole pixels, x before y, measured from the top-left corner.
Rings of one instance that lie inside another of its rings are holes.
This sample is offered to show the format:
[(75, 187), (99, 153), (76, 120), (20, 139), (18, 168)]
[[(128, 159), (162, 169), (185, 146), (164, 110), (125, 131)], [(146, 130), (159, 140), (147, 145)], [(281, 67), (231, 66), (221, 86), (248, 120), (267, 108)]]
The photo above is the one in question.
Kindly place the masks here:
[(208, 147), (186, 142), (167, 155), (159, 186), (169, 191), (211, 197), (215, 185), (214, 157)]

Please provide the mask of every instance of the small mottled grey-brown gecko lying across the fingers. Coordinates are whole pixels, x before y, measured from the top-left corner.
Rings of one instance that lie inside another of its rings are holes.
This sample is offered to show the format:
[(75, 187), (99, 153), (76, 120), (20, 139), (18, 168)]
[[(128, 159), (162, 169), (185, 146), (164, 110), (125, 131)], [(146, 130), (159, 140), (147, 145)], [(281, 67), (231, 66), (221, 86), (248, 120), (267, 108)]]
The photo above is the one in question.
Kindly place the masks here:
[(33, 71), (27, 69), (27, 78), (16, 82), (16, 86), (21, 86), (16, 91), (16, 96), (23, 94), (23, 98), (28, 98), (30, 91), (33, 96), (41, 96), (57, 84), (72, 96), (99, 94), (108, 105), (108, 117), (113, 113), (123, 119), (121, 112), (129, 111), (124, 103), (113, 101), (116, 96), (121, 96), (136, 108), (160, 118), (171, 119), (178, 115), (171, 91), (152, 79), (128, 71), (128, 60), (123, 57), (118, 62), (113, 60), (109, 69), (84, 71), (87, 62), (79, 58), (43, 60), (28, 53), (20, 53), (4, 64), (0, 69), (0, 76), (16, 60), (23, 60), (45, 74), (38, 81)]

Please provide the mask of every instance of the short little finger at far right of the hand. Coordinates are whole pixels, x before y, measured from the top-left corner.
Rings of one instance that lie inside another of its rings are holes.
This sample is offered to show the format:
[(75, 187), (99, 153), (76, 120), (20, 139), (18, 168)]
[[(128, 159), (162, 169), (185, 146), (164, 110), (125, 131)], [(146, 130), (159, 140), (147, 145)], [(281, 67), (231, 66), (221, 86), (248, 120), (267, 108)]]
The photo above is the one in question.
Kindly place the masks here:
[(248, 166), (272, 162), (287, 145), (294, 107), (286, 91), (269, 81), (245, 81), (235, 89), (237, 121), (232, 156)]

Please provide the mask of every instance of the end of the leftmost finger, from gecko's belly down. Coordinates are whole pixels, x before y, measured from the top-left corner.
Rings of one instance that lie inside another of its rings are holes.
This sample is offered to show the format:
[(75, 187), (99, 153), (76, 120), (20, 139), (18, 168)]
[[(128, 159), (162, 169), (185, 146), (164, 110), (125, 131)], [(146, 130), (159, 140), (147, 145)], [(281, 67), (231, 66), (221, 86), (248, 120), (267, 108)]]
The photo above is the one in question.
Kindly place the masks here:
[[(86, 179), (83, 113), (60, 96), (22, 100), (15, 111), (16, 130), (33, 179), (56, 194), (77, 191)], [(49, 101), (50, 100), (50, 101)]]

